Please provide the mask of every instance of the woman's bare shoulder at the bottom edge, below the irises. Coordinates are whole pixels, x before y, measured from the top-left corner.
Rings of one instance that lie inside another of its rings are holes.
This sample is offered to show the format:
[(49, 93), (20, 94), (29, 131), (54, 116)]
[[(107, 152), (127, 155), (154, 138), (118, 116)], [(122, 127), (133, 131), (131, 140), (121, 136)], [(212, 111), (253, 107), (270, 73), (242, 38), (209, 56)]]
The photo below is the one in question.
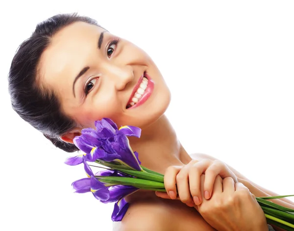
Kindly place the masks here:
[(214, 231), (196, 210), (176, 201), (170, 203), (130, 205), (122, 222), (114, 224), (113, 231)]

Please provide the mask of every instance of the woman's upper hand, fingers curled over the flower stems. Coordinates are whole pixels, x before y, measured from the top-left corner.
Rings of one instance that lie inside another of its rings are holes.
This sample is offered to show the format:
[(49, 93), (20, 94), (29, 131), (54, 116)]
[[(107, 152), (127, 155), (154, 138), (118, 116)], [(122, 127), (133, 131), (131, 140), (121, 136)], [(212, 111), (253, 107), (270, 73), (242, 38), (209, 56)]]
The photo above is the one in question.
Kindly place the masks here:
[[(204, 186), (200, 191), (200, 176), (205, 174)], [(205, 159), (192, 160), (184, 166), (170, 166), (164, 174), (164, 185), (167, 193), (156, 192), (162, 198), (178, 198), (188, 206), (200, 205), (202, 195), (209, 199), (213, 193), (213, 185), (216, 177), (231, 177), (238, 182), (236, 175), (220, 160)], [(177, 191), (176, 191), (177, 189)]]

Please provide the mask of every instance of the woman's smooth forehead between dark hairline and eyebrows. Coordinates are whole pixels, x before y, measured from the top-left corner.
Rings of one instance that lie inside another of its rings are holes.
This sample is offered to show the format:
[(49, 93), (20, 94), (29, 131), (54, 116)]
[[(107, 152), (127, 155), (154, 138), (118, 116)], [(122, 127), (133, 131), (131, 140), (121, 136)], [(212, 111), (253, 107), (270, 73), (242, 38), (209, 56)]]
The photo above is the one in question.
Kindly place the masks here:
[(61, 84), (62, 79), (68, 81), (66, 77), (76, 76), (91, 58), (88, 54), (98, 47), (98, 37), (104, 30), (99, 26), (76, 22), (58, 31), (40, 59), (42, 84), (55, 87), (56, 82)]

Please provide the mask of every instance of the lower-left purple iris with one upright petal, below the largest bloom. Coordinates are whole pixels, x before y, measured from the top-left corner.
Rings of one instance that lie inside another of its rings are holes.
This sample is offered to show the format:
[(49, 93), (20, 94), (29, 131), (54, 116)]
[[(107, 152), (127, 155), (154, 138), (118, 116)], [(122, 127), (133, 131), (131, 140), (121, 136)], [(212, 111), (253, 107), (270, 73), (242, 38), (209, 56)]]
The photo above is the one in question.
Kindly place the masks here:
[(76, 180), (72, 183), (73, 188), (75, 189), (76, 193), (86, 193), (86, 192), (92, 192), (94, 197), (100, 201), (106, 201), (110, 197), (110, 193), (108, 188), (97, 180), (87, 164), (85, 160), (84, 162), (84, 168), (86, 171), (86, 174), (88, 178), (83, 178), (80, 180)]

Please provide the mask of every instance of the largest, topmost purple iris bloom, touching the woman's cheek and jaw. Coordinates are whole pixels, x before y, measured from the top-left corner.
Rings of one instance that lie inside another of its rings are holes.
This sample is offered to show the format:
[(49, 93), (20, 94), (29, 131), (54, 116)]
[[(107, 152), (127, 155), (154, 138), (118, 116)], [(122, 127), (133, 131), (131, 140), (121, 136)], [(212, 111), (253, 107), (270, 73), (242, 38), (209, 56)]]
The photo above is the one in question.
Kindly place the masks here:
[(86, 161), (95, 160), (114, 161), (122, 163), (131, 169), (142, 171), (137, 153), (134, 153), (126, 136), (140, 137), (141, 129), (134, 126), (117, 125), (108, 118), (95, 122), (96, 129), (84, 128), (82, 134), (73, 139), (74, 144), (85, 155), (69, 157), (66, 164), (77, 165)]

